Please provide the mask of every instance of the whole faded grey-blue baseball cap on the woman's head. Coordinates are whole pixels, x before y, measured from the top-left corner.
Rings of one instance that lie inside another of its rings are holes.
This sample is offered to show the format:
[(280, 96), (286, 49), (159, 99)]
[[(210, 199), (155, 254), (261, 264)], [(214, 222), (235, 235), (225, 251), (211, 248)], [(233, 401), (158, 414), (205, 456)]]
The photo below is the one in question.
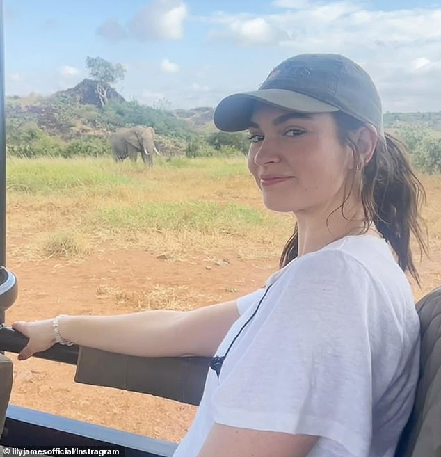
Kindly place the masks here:
[(300, 113), (343, 111), (383, 134), (380, 95), (369, 74), (340, 54), (300, 54), (280, 63), (258, 90), (223, 99), (214, 124), (223, 131), (248, 129), (255, 102)]

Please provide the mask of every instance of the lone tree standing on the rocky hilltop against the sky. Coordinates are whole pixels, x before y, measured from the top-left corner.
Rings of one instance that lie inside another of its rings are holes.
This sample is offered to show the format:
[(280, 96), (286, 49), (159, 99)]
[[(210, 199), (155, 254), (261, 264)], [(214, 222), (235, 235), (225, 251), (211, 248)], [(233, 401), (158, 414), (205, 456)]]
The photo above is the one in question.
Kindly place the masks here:
[(90, 77), (97, 81), (95, 90), (101, 106), (104, 106), (107, 103), (107, 90), (110, 84), (124, 79), (126, 69), (120, 63), (111, 63), (102, 57), (89, 56), (86, 57), (86, 67), (89, 69)]

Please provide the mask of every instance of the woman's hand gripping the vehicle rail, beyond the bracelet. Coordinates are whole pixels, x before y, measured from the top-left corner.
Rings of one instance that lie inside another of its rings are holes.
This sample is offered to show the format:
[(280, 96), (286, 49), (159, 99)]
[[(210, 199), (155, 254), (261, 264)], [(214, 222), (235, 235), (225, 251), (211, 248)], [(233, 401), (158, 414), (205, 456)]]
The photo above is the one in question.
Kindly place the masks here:
[(36, 352), (45, 351), (55, 344), (53, 321), (54, 319), (45, 319), (44, 321), (13, 323), (14, 330), (29, 338), (28, 344), (19, 353), (18, 360), (29, 359)]

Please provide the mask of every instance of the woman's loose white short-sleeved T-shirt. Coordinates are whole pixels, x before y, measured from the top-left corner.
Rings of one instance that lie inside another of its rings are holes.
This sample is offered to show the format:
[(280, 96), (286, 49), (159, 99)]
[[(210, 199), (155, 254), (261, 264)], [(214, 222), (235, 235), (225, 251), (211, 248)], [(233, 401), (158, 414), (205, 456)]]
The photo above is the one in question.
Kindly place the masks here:
[(232, 345), (174, 457), (195, 457), (215, 423), (318, 435), (308, 457), (392, 457), (415, 398), (419, 319), (387, 243), (346, 236), (294, 259), (239, 298)]

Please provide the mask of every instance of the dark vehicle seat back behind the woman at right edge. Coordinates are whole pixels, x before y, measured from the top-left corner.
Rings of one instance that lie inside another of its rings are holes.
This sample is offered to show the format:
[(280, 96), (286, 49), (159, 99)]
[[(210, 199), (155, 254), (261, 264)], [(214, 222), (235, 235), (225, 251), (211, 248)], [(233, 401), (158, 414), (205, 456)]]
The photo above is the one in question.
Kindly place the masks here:
[(395, 457), (441, 457), (441, 287), (417, 303), (421, 359), (415, 405)]

